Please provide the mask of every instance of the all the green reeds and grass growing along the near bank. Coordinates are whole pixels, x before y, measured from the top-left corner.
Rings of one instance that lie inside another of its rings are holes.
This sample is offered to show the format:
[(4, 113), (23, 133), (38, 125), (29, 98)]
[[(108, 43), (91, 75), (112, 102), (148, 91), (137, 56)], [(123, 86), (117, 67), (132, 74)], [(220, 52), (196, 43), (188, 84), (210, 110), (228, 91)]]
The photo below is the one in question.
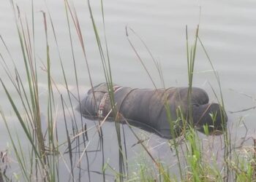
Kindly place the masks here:
[[(12, 2), (12, 1), (11, 1)], [(1, 55), (1, 65), (4, 68), (4, 71), (6, 72), (8, 78), (10, 79), (11, 84), (15, 88), (15, 91), (18, 93), (18, 97), (20, 99), (21, 103), (21, 109), (18, 105), (18, 102), (12, 98), (11, 92), (7, 89), (7, 84), (5, 81), (1, 80), (1, 85), (4, 88), (4, 92), (7, 94), (7, 98), (9, 99), (11, 106), (13, 110), (15, 111), (15, 114), (18, 118), (18, 122), (20, 123), (21, 127), (23, 128), (23, 131), (26, 135), (26, 137), (29, 139), (29, 157), (26, 157), (26, 149), (23, 149), (22, 141), (18, 138), (18, 135), (13, 136), (12, 132), (10, 131), (10, 124), (7, 122), (7, 119), (4, 116), (4, 113), (1, 112), (1, 116), (4, 119), (4, 123), (7, 127), (7, 131), (10, 135), (10, 140), (12, 142), (12, 148), (15, 153), (15, 159), (18, 160), (18, 165), (20, 167), (22, 178), (24, 178), (26, 181), (34, 181), (35, 179), (37, 181), (43, 180), (43, 181), (59, 181), (60, 180), (60, 172), (59, 172), (59, 160), (62, 159), (64, 162), (64, 165), (67, 167), (67, 170), (69, 171), (69, 180), (75, 181), (75, 179), (78, 179), (78, 181), (83, 181), (83, 175), (81, 174), (82, 170), (82, 160), (86, 158), (86, 165), (88, 169), (88, 179), (89, 181), (93, 181), (91, 173), (94, 173), (95, 171), (90, 170), (89, 165), (89, 156), (87, 154), (88, 147), (90, 143), (93, 142), (94, 137), (99, 135), (99, 141), (102, 151), (102, 169), (100, 173), (102, 175), (102, 181), (106, 181), (105, 179), (105, 173), (106, 170), (110, 169), (111, 172), (113, 172), (114, 176), (116, 177), (116, 181), (132, 181), (132, 180), (138, 180), (138, 181), (232, 181), (235, 179), (236, 181), (253, 181), (255, 179), (255, 146), (252, 146), (252, 152), (244, 152), (244, 156), (241, 156), (238, 154), (237, 151), (231, 150), (231, 141), (230, 141), (230, 133), (228, 130), (224, 130), (224, 138), (225, 138), (225, 155), (223, 159), (225, 160), (225, 173), (222, 172), (222, 169), (219, 169), (217, 167), (217, 160), (212, 159), (205, 159), (204, 154), (207, 151), (204, 151), (203, 148), (203, 141), (200, 139), (197, 135), (197, 132), (195, 132), (195, 129), (186, 126), (186, 122), (190, 122), (188, 118), (186, 118), (182, 113), (182, 108), (177, 109), (177, 116), (178, 119), (176, 121), (173, 121), (171, 115), (170, 115), (170, 108), (167, 104), (167, 97), (165, 101), (165, 110), (167, 111), (167, 117), (170, 122), (170, 132), (173, 135), (173, 140), (169, 141), (170, 144), (170, 150), (172, 150), (172, 147), (174, 147), (175, 151), (173, 154), (176, 154), (176, 157), (178, 158), (178, 168), (179, 173), (177, 174), (171, 174), (168, 167), (166, 167), (157, 157), (154, 157), (150, 150), (148, 149), (148, 146), (146, 146), (142, 141), (141, 138), (138, 136), (138, 134), (132, 129), (132, 127), (129, 125), (127, 121), (125, 123), (128, 124), (130, 130), (132, 131), (133, 135), (135, 135), (135, 138), (138, 141), (138, 144), (143, 147), (143, 150), (145, 151), (146, 155), (148, 155), (153, 162), (154, 166), (150, 164), (143, 164), (143, 162), (139, 161), (139, 169), (140, 172), (137, 174), (137, 176), (130, 176), (128, 173), (128, 160), (127, 160), (127, 143), (124, 135), (124, 127), (121, 130), (121, 126), (119, 122), (122, 120), (125, 120), (122, 118), (122, 116), (118, 113), (116, 110), (116, 103), (113, 97), (113, 78), (111, 74), (110, 69), (110, 58), (109, 58), (109, 52), (108, 52), (108, 41), (106, 38), (106, 35), (104, 35), (104, 42), (105, 44), (102, 44), (102, 40), (99, 39), (99, 30), (97, 29), (96, 22), (94, 20), (94, 13), (93, 9), (91, 9), (90, 1), (88, 2), (89, 6), (89, 13), (91, 15), (92, 24), (94, 26), (94, 33), (99, 49), (99, 54), (102, 59), (102, 66), (105, 74), (105, 80), (108, 83), (108, 92), (110, 95), (110, 100), (112, 104), (112, 112), (114, 114), (114, 118), (116, 119), (115, 125), (116, 125), (116, 134), (118, 138), (118, 159), (119, 159), (119, 169), (116, 171), (111, 167), (108, 162), (105, 162), (105, 156), (104, 156), (104, 149), (103, 149), (103, 135), (102, 135), (102, 124), (105, 123), (106, 119), (108, 119), (109, 114), (104, 119), (99, 119), (99, 124), (96, 126), (97, 130), (94, 133), (92, 138), (89, 138), (87, 135), (87, 132), (91, 130), (91, 128), (87, 128), (86, 125), (82, 122), (82, 115), (80, 115), (80, 126), (78, 123), (78, 118), (75, 116), (74, 111), (74, 103), (72, 103), (72, 97), (74, 95), (69, 90), (69, 84), (67, 82), (66, 72), (64, 65), (61, 60), (61, 53), (59, 51), (59, 44), (57, 40), (57, 35), (54, 28), (53, 20), (50, 17), (50, 12), (46, 14), (45, 12), (42, 12), (43, 16), (43, 25), (45, 28), (45, 58), (46, 58), (46, 64), (44, 65), (43, 71), (45, 71), (47, 83), (48, 83), (48, 105), (47, 105), (47, 122), (48, 122), (48, 128), (47, 130), (42, 130), (42, 118), (40, 116), (40, 111), (42, 109), (42, 106), (39, 105), (39, 87), (38, 87), (38, 76), (37, 76), (37, 58), (35, 53), (35, 45), (37, 42), (35, 41), (34, 37), (34, 5), (33, 1), (31, 1), (31, 17), (32, 17), (32, 26), (29, 27), (29, 22), (25, 18), (25, 21), (23, 22), (21, 20), (21, 13), (18, 7), (15, 9), (15, 4), (12, 2), (12, 8), (14, 9), (14, 12), (17, 12), (17, 15), (15, 14), (15, 20), (16, 25), (18, 29), (18, 39), (20, 41), (20, 48), (22, 50), (23, 54), (23, 61), (24, 66), (26, 70), (26, 78), (24, 79), (21, 77), (20, 72), (18, 68), (15, 66), (14, 61), (12, 60), (12, 53), (9, 51), (8, 47), (5, 44), (4, 39), (1, 37), (1, 41), (4, 44), (4, 47), (6, 47), (7, 52), (9, 52), (9, 56), (11, 60), (13, 61), (13, 67), (15, 76), (12, 76), (12, 69), (10, 69), (7, 66), (7, 60), (4, 58), (3, 55)], [(90, 71), (89, 64), (87, 63), (86, 58), (86, 47), (83, 42), (83, 31), (80, 28), (80, 22), (78, 20), (77, 12), (75, 12), (75, 7), (70, 1), (64, 1), (65, 3), (65, 11), (67, 15), (67, 23), (68, 23), (68, 30), (69, 30), (69, 41), (70, 41), (70, 47), (72, 51), (72, 61), (73, 61), (73, 68), (74, 68), (74, 77), (75, 77), (75, 84), (76, 84), (76, 90), (78, 92), (78, 102), (80, 104), (80, 92), (78, 90), (78, 86), (80, 82), (78, 81), (78, 70), (76, 66), (76, 60), (75, 60), (75, 54), (74, 54), (74, 40), (72, 38), (72, 25), (73, 23), (80, 47), (82, 48), (84, 58), (86, 60), (87, 69)], [(101, 1), (101, 9), (102, 9), (102, 20), (104, 25), (104, 34), (105, 34), (105, 15), (104, 15), (104, 9), (103, 9), (103, 2)], [(48, 21), (50, 20), (50, 21)], [(51, 26), (48, 28), (48, 25)], [(32, 31), (29, 31), (32, 30)], [(192, 44), (192, 47), (189, 47), (188, 42), (188, 36), (187, 36), (187, 65), (188, 65), (188, 82), (189, 82), (189, 92), (188, 95), (191, 95), (192, 90), (192, 84), (193, 84), (193, 74), (194, 74), (194, 66), (195, 66), (195, 58), (196, 58), (196, 50), (197, 50), (197, 41), (199, 39), (198, 36), (198, 30), (199, 27), (196, 29), (195, 33), (195, 41)], [(129, 29), (129, 31), (133, 31), (132, 29)], [(64, 100), (63, 95), (58, 90), (57, 85), (54, 83), (54, 79), (51, 75), (51, 56), (50, 56), (50, 43), (49, 43), (49, 33), (53, 33), (53, 37), (55, 39), (56, 47), (59, 54), (59, 61), (61, 65), (61, 71), (62, 76), (64, 79), (64, 87), (67, 91), (68, 100)], [(186, 34), (187, 28), (186, 28)], [(127, 33), (127, 36), (129, 34)], [(139, 37), (139, 36), (138, 36)], [(129, 38), (128, 38), (129, 39)], [(139, 38), (140, 39), (140, 38)], [(157, 62), (157, 60), (154, 59), (154, 56), (151, 54), (150, 50), (146, 46), (145, 42), (141, 39), (144, 46), (146, 47), (146, 50), (148, 50), (149, 54), (151, 55), (152, 60), (154, 61), (154, 66), (157, 68), (157, 73), (159, 74), (159, 82), (161, 82), (162, 87), (165, 88), (165, 82), (162, 75), (162, 68), (160, 63)], [(132, 43), (130, 43), (131, 46)], [(203, 47), (202, 41), (200, 41), (201, 46)], [(106, 51), (104, 51), (103, 47), (106, 48)], [(134, 48), (135, 49), (135, 48)], [(203, 47), (203, 50), (206, 52), (205, 47)], [(140, 55), (135, 50), (136, 55), (138, 55), (140, 62), (143, 64), (143, 60), (141, 60)], [(208, 57), (208, 54), (206, 52), (206, 55)], [(211, 63), (210, 58), (208, 57), (209, 62)], [(42, 63), (44, 64), (44, 63)], [(147, 74), (149, 76), (149, 79), (151, 79), (151, 82), (154, 84), (154, 87), (156, 87), (156, 82), (151, 78), (151, 75), (149, 71), (147, 70), (145, 64), (143, 64), (143, 67), (145, 67)], [(217, 78), (217, 82), (219, 84), (219, 91), (221, 98), (219, 99), (217, 97), (217, 92), (215, 92), (214, 88), (212, 89), (214, 92), (214, 95), (216, 96), (217, 100), (221, 105), (223, 106), (223, 112), (222, 112), (222, 122), (225, 119), (225, 108), (224, 108), (224, 99), (222, 95), (222, 87), (219, 82), (219, 75), (217, 74), (217, 71), (215, 71), (213, 64), (211, 63), (211, 67), (214, 70), (214, 74)], [(91, 87), (93, 89), (93, 82), (91, 80), (91, 74), (89, 73)], [(25, 81), (24, 81), (25, 80)], [(26, 82), (28, 82), (26, 84)], [(56, 123), (56, 96), (53, 94), (53, 87), (56, 87), (56, 90), (59, 92), (59, 97), (61, 99), (61, 112), (64, 117), (64, 132), (66, 134), (65, 141), (59, 143), (59, 135), (57, 130), (57, 123)], [(189, 96), (189, 100), (190, 100)], [(95, 98), (94, 98), (95, 99)], [(191, 109), (191, 101), (189, 101), (189, 114), (192, 114)], [(95, 102), (96, 103), (96, 102)], [(68, 107), (71, 106), (71, 108)], [(96, 106), (96, 104), (95, 104)], [(81, 105), (79, 106), (81, 107)], [(68, 126), (68, 119), (67, 119), (67, 112), (72, 116), (71, 124), (72, 124), (72, 134), (70, 132), (70, 128)], [(24, 114), (25, 113), (25, 114)], [(191, 116), (191, 115), (189, 115)], [(189, 117), (191, 118), (191, 117)], [(214, 114), (211, 115), (211, 118), (214, 120), (215, 116)], [(182, 122), (181, 128), (181, 138), (176, 138), (176, 126), (179, 124), (179, 121)], [(224, 125), (224, 123), (223, 123)], [(80, 128), (79, 128), (80, 127)], [(206, 134), (209, 134), (208, 127), (210, 126), (204, 126), (204, 131)], [(38, 133), (37, 133), (38, 132)], [(123, 134), (123, 135), (121, 135)], [(80, 140), (82, 138), (82, 140)], [(183, 140), (186, 139), (186, 140)], [(244, 143), (243, 143), (244, 144)], [(60, 147), (66, 146), (66, 150), (62, 153)], [(82, 148), (83, 146), (83, 148)], [(184, 147), (184, 148), (182, 148)], [(80, 149), (83, 149), (82, 152), (80, 152)], [(97, 151), (96, 151), (97, 152)], [(231, 158), (231, 152), (235, 154), (233, 158)], [(68, 155), (69, 164), (66, 161), (66, 158), (64, 157), (64, 154)], [(237, 154), (237, 156), (236, 156)], [(78, 158), (77, 158), (78, 155)], [(29, 159), (28, 159), (29, 158)], [(184, 159), (184, 161), (183, 161)], [(183, 164), (184, 163), (184, 164)], [(209, 164), (208, 164), (209, 163)], [(157, 170), (157, 171), (156, 171)], [(78, 176), (77, 176), (78, 172)], [(1, 172), (0, 172), (1, 173)], [(96, 173), (96, 172), (95, 172)], [(234, 178), (233, 175), (234, 174)], [(15, 178), (15, 174), (13, 174), (13, 178)], [(17, 177), (18, 178), (18, 177)], [(18, 178), (20, 179), (20, 178)]]

